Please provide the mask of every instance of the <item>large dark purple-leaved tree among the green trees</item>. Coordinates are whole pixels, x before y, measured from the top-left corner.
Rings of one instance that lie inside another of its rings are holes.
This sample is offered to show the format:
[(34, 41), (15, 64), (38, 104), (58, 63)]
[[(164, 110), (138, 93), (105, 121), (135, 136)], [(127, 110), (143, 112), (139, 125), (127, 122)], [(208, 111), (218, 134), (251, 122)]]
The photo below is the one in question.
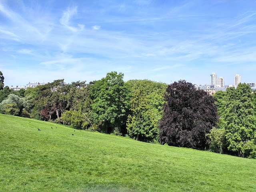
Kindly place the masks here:
[(161, 144), (205, 149), (207, 135), (218, 121), (215, 98), (180, 80), (168, 86), (160, 120)]

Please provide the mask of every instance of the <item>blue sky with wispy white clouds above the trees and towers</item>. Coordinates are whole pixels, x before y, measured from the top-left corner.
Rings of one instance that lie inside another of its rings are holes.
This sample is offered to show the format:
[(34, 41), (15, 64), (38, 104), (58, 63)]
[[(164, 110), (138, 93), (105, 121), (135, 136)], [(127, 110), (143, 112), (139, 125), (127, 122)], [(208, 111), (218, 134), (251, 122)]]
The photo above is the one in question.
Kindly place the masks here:
[(4, 84), (124, 80), (256, 82), (256, 1), (0, 0)]

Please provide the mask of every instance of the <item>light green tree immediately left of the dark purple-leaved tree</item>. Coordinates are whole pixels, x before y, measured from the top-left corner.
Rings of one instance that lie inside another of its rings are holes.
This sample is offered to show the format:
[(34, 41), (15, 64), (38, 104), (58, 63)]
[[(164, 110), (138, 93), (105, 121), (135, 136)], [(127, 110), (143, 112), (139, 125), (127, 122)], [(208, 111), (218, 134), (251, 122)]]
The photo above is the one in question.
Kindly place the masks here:
[(132, 94), (126, 124), (128, 134), (136, 140), (158, 142), (158, 125), (167, 84), (150, 80), (129, 80), (126, 84)]

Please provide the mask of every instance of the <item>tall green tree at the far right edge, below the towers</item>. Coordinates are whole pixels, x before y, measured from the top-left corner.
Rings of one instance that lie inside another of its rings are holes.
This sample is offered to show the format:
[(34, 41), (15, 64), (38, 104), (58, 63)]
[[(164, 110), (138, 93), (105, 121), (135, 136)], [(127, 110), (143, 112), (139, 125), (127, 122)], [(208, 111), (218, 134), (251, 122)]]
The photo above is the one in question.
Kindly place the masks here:
[(253, 94), (249, 85), (239, 84), (227, 90), (223, 127), (228, 150), (248, 157), (256, 148), (256, 117)]

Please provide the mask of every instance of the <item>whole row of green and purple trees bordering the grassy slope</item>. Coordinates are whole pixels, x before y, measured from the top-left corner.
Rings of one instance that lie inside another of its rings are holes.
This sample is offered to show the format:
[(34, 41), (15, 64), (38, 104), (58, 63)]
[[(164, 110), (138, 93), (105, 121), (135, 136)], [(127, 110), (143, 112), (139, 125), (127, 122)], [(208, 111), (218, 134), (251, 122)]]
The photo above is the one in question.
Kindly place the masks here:
[[(139, 141), (256, 157), (256, 96), (246, 84), (214, 96), (185, 80), (170, 85), (106, 77), (14, 91), (0, 73), (0, 113), (129, 136)], [(2, 79), (2, 80), (1, 80)]]

